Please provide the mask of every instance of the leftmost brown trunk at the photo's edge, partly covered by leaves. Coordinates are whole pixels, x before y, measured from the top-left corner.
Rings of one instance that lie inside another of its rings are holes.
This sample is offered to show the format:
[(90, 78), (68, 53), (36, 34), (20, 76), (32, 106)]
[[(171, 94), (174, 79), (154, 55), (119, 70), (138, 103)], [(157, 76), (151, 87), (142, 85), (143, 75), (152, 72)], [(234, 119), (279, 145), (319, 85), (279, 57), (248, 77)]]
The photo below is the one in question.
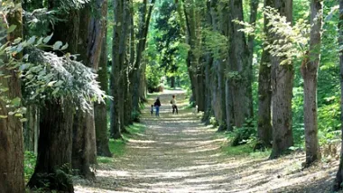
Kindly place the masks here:
[[(3, 3), (10, 3), (10, 1), (4, 1)], [(3, 6), (0, 2), (0, 5)], [(20, 0), (14, 1), (15, 5), (21, 5)], [(8, 15), (1, 15), (1, 27), (15, 25), (14, 32), (7, 35), (7, 41), (14, 41), (17, 38), (23, 37), (23, 20), (22, 20), (22, 8), (12, 11)], [(7, 23), (6, 23), (7, 22)], [(0, 33), (0, 35), (6, 36), (6, 34)], [(6, 40), (6, 39), (5, 39)], [(15, 56), (20, 60), (22, 54), (18, 53)], [(10, 78), (0, 76), (0, 87), (7, 88), (5, 93), (0, 91), (2, 97), (0, 97), (0, 115), (6, 118), (0, 118), (0, 189), (4, 192), (16, 193), (24, 192), (24, 179), (23, 179), (23, 132), (22, 123), (19, 117), (9, 115), (13, 108), (7, 107), (3, 97), (7, 97), (10, 100), (14, 98), (21, 98), (21, 83), (19, 75), (15, 69), (7, 69), (5, 59), (1, 59), (0, 70), (8, 75)]]

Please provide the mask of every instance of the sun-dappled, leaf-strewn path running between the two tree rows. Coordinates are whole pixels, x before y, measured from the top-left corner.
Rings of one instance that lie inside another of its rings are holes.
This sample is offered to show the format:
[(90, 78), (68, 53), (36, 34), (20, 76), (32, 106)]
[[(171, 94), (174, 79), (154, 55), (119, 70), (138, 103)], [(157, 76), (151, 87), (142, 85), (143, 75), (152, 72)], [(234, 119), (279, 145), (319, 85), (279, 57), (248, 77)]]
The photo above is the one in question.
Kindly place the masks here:
[[(169, 101), (177, 95), (179, 115)], [(338, 161), (301, 170), (303, 152), (268, 160), (268, 152), (231, 153), (227, 137), (187, 108), (182, 91), (165, 91), (161, 117), (146, 106), (142, 124), (123, 155), (99, 163), (97, 180), (75, 181), (76, 192), (330, 192)], [(153, 104), (154, 97), (149, 99)], [(234, 151), (231, 151), (234, 152)]]

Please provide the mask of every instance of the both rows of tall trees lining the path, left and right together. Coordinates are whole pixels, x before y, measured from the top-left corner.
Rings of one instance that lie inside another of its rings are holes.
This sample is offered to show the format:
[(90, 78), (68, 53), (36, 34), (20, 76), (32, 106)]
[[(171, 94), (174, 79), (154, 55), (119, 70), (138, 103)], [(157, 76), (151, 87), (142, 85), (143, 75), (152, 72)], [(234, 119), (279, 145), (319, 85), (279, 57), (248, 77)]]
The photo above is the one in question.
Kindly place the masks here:
[[(90, 166), (97, 163), (97, 154), (110, 156), (104, 101), (108, 85), (111, 137), (121, 138), (121, 133), (127, 132), (125, 126), (139, 114), (146, 92), (144, 50), (155, 1), (108, 3), (0, 3), (0, 189), (24, 191), (23, 150), (35, 146), (37, 164), (30, 188), (73, 192), (71, 169), (85, 178), (95, 178)], [(322, 1), (309, 2), (307, 23), (292, 17), (292, 0), (264, 0), (264, 27), (258, 29), (255, 23), (261, 3), (251, 0), (246, 6), (242, 0), (175, 0), (161, 5), (176, 10), (179, 23), (156, 20), (159, 23), (154, 29), (165, 31), (154, 39), (162, 42), (156, 51), (164, 53), (161, 58), (166, 69), (174, 73), (175, 50), (164, 50), (163, 46), (182, 40), (168, 32), (184, 32), (192, 98), (199, 111), (205, 112), (203, 121), (209, 123), (214, 116), (219, 131), (237, 131), (254, 126), (255, 42), (263, 41), (257, 135), (263, 146), (273, 147), (271, 158), (293, 145), (292, 87), (295, 69), (299, 69), (294, 63), (302, 60), (309, 166), (320, 159), (316, 95)], [(340, 21), (342, 6), (340, 1)], [(172, 27), (164, 26), (165, 22)], [(342, 173), (339, 167), (337, 189)]]

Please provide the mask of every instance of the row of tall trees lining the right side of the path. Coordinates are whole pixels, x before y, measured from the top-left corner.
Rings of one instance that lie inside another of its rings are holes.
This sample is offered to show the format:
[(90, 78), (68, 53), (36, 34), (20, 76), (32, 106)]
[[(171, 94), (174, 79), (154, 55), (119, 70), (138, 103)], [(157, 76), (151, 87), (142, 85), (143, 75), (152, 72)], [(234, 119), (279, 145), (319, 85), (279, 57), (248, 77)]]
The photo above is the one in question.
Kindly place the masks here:
[[(249, 6), (244, 6), (242, 0), (175, 1), (180, 14), (184, 15), (181, 24), (186, 26), (186, 41), (190, 45), (188, 68), (192, 95), (199, 111), (205, 112), (203, 121), (209, 123), (209, 118), (214, 115), (219, 131), (254, 126), (255, 41), (263, 41), (258, 69), (258, 143), (272, 147), (271, 159), (288, 152), (294, 145), (292, 88), (295, 69), (300, 69), (304, 96), (305, 166), (320, 160), (317, 88), (323, 2), (308, 2), (310, 9), (306, 21), (293, 18), (292, 0), (264, 0), (264, 27), (258, 29), (255, 26), (257, 9), (262, 3), (258, 0), (249, 1)], [(338, 10), (337, 3), (334, 5), (327, 20)], [(249, 11), (244, 7), (249, 7)], [(340, 2), (339, 45), (342, 12)], [(340, 47), (338, 50), (342, 54)], [(294, 66), (298, 61), (301, 66)], [(343, 101), (343, 95), (341, 98)], [(341, 188), (341, 166), (334, 189)]]

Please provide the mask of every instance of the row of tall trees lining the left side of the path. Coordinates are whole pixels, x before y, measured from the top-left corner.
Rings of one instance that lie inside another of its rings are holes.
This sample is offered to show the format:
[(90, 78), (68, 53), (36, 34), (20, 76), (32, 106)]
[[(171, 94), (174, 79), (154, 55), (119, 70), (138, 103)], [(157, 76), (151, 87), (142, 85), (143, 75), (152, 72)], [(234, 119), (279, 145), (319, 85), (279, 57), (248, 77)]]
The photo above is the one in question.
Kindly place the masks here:
[(73, 192), (70, 175), (95, 178), (97, 155), (111, 156), (105, 100), (117, 139), (144, 99), (153, 3), (0, 2), (0, 189), (24, 192), (24, 150), (37, 153), (29, 188)]

